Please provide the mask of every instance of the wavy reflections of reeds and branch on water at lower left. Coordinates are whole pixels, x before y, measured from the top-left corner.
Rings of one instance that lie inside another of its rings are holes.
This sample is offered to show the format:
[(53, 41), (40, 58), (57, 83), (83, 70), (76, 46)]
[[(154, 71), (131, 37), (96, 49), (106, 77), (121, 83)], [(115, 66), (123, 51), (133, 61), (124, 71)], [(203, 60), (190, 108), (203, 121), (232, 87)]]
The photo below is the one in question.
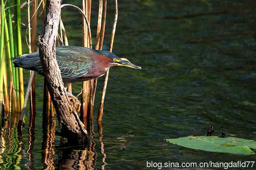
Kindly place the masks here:
[[(46, 112), (43, 115), (43, 142), (42, 147), (35, 144), (37, 138), (35, 132), (35, 117), (30, 117), (28, 130), (17, 129), (14, 120), (6, 121), (1, 128), (0, 134), (0, 169), (23, 169), (26, 167), (30, 170), (38, 169), (37, 164), (38, 156), (42, 157), (43, 166), (40, 169), (79, 169), (79, 170), (92, 170), (97, 169), (96, 161), (98, 154), (96, 152), (96, 143), (93, 141), (95, 133), (93, 132), (93, 121), (87, 119), (87, 130), (91, 140), (86, 146), (72, 146), (66, 142), (65, 139), (60, 138), (60, 145), (56, 146), (55, 143), (55, 128), (56, 119), (51, 112)], [(106, 154), (104, 152), (104, 144), (102, 141), (103, 128), (102, 123), (98, 123), (100, 151), (102, 160), (98, 162), (99, 169), (105, 170)], [(15, 124), (15, 125), (13, 125)], [(22, 131), (23, 130), (23, 131)], [(25, 133), (28, 133), (26, 135)], [(56, 154), (57, 153), (57, 154)], [(58, 155), (58, 159), (54, 157)], [(25, 163), (23, 161), (26, 159)], [(21, 162), (21, 160), (23, 161)]]

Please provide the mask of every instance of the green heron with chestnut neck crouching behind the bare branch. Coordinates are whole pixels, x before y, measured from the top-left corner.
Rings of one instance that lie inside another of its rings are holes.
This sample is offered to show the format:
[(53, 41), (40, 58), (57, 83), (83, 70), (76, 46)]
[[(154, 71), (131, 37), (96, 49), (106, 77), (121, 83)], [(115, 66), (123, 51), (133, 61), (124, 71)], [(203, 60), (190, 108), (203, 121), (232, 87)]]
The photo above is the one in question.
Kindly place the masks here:
[[(141, 69), (141, 67), (135, 66), (128, 60), (120, 59), (109, 51), (93, 50), (85, 47), (56, 47), (56, 59), (65, 84), (101, 77), (112, 66)], [(21, 57), (15, 58), (13, 63), (14, 67), (34, 70), (44, 75), (38, 52), (23, 54)], [(68, 95), (70, 96), (70, 94)]]

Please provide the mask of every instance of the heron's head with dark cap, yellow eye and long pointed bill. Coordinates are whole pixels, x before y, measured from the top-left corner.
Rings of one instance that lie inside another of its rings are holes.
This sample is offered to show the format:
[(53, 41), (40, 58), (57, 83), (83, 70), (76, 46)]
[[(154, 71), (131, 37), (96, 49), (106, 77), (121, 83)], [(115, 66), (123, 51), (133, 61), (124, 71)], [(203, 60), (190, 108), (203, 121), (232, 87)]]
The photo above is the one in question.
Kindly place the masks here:
[(102, 53), (105, 56), (107, 56), (109, 59), (111, 59), (109, 64), (111, 64), (112, 66), (126, 66), (132, 69), (141, 69), (141, 67), (136, 66), (135, 64), (132, 64), (128, 59), (119, 58), (118, 56), (116, 56), (115, 54), (109, 51), (103, 50)]

